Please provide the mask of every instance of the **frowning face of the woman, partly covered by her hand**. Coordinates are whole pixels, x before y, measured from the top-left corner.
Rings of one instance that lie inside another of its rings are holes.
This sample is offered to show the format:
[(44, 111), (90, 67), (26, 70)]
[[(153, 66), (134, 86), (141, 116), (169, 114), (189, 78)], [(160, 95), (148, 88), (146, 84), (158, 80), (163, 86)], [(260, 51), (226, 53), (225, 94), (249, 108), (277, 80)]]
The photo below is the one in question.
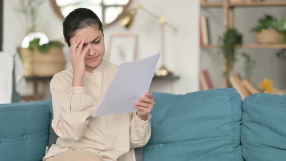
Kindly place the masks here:
[(85, 70), (92, 72), (102, 62), (105, 52), (103, 34), (95, 27), (86, 27), (75, 32), (75, 36), (70, 39), (70, 42), (79, 39), (84, 40), (82, 50), (90, 46), (89, 51), (85, 55)]

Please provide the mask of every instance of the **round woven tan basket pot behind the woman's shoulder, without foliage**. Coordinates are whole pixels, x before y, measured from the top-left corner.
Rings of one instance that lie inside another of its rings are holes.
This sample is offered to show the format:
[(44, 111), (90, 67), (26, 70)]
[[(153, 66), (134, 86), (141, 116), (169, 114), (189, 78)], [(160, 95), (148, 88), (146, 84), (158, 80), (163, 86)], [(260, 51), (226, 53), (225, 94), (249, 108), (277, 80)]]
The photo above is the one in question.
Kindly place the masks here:
[(62, 47), (51, 47), (47, 53), (37, 48), (33, 52), (33, 74), (39, 77), (51, 77), (64, 70), (65, 59)]

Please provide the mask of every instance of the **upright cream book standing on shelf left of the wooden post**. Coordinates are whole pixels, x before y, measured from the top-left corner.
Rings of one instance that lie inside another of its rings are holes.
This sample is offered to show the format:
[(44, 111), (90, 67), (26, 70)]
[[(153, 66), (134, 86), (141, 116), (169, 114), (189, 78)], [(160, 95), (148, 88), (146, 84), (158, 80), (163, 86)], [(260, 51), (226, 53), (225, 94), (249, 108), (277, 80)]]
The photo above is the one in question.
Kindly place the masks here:
[(209, 22), (206, 16), (200, 16), (200, 45), (210, 44)]

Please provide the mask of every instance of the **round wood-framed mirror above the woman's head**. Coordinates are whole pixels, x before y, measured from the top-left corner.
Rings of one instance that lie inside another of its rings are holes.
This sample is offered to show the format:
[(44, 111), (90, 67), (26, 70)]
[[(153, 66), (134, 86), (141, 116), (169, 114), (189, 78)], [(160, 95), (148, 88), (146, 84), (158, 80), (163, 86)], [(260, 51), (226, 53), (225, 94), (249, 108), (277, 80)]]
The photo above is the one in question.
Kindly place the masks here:
[(55, 13), (64, 20), (71, 11), (84, 7), (93, 10), (106, 29), (126, 11), (132, 0), (50, 0)]

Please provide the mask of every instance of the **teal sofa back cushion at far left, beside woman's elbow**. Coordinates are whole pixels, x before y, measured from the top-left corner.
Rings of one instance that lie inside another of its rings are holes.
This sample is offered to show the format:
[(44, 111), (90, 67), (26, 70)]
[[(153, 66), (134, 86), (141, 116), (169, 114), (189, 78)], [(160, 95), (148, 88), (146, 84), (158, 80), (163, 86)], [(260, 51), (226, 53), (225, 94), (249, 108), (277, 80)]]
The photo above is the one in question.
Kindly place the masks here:
[(0, 161), (40, 161), (49, 132), (49, 101), (0, 105)]

